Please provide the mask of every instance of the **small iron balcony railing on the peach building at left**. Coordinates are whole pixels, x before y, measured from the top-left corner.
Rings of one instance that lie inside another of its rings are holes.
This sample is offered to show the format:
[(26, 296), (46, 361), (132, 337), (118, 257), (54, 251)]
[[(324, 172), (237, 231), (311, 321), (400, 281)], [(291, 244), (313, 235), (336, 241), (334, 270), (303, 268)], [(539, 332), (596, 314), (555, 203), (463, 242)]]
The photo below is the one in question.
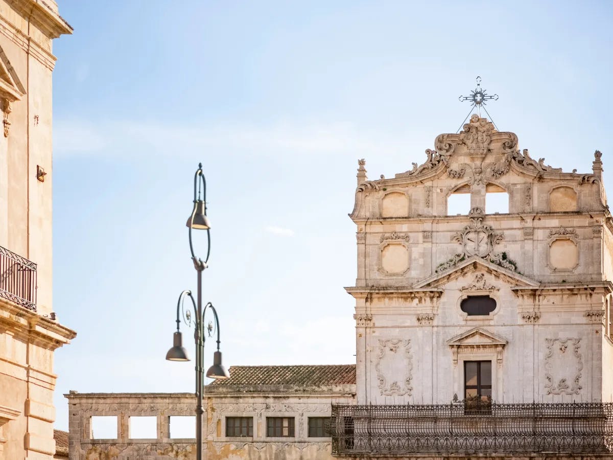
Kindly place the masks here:
[(2, 246), (0, 297), (36, 312), (36, 264)]

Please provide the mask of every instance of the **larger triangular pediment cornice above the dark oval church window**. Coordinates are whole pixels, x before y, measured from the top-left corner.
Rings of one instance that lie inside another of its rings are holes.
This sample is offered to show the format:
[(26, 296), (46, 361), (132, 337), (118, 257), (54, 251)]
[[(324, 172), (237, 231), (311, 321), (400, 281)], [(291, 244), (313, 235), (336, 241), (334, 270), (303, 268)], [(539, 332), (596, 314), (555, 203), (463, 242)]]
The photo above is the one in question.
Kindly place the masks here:
[(491, 263), (479, 256), (471, 256), (451, 268), (435, 273), (431, 277), (416, 283), (413, 285), (413, 288), (438, 288), (446, 285), (455, 278), (474, 272), (492, 274), (494, 277), (501, 278), (501, 280), (511, 286), (536, 287), (540, 285), (539, 282), (532, 278), (528, 278), (517, 272)]

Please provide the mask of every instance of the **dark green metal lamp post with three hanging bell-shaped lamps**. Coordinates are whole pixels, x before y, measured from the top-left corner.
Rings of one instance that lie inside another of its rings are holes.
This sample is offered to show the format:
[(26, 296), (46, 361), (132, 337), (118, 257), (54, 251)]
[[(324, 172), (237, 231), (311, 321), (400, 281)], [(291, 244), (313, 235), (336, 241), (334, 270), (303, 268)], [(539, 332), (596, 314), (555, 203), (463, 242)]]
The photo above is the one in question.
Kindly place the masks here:
[[(202, 191), (202, 199), (200, 199), (200, 192)], [(202, 272), (208, 267), (208, 256), (211, 253), (211, 225), (207, 217), (207, 181), (202, 174), (202, 163), (198, 165), (196, 174), (194, 174), (194, 208), (192, 209), (191, 216), (189, 217), (187, 224), (189, 229), (189, 251), (191, 251), (192, 262), (194, 268), (198, 274), (198, 286), (197, 286), (197, 301), (194, 300), (191, 291), (183, 291), (179, 296), (177, 302), (177, 332), (173, 334), (173, 346), (166, 353), (166, 359), (169, 361), (189, 361), (187, 351), (183, 348), (183, 337), (179, 329), (180, 316), (179, 310), (183, 306), (185, 297), (189, 297), (194, 307), (194, 339), (196, 342), (196, 460), (202, 460), (202, 393), (204, 391), (204, 316), (207, 309), (212, 310), (215, 317), (215, 329), (217, 331), (217, 351), (213, 355), (213, 366), (207, 370), (207, 377), (210, 378), (228, 378), (230, 374), (225, 367), (221, 364), (221, 351), (219, 351), (219, 318), (217, 316), (217, 310), (213, 307), (211, 302), (208, 302), (204, 308), (202, 307)], [(194, 246), (192, 244), (192, 229), (201, 229), (207, 231), (207, 258), (202, 259), (196, 257), (194, 253)], [(192, 318), (188, 308), (187, 312), (183, 310), (186, 323), (191, 324)], [(213, 327), (211, 324), (207, 326), (207, 330), (210, 334)]]

